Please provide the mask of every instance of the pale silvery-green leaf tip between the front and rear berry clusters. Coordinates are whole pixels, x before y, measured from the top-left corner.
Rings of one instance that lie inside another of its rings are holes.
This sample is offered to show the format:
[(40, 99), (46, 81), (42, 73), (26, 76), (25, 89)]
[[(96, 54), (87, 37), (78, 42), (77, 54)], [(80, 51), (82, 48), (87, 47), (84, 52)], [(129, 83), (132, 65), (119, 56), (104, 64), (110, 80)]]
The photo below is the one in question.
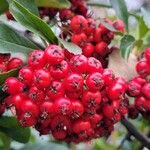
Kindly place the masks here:
[(76, 44), (74, 43), (71, 43), (71, 42), (66, 42), (62, 39), (59, 38), (59, 42), (63, 45), (63, 47), (65, 49), (67, 49), (70, 53), (73, 53), (75, 55), (77, 54), (81, 54), (82, 53), (82, 49), (77, 46)]

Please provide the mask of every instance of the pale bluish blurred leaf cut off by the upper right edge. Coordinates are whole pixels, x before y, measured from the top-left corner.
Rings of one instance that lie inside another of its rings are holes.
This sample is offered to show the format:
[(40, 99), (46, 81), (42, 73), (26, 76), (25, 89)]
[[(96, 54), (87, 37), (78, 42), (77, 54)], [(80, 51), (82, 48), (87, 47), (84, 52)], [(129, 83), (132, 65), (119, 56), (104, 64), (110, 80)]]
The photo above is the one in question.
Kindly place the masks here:
[(141, 13), (145, 24), (150, 28), (150, 4), (143, 5), (141, 8)]

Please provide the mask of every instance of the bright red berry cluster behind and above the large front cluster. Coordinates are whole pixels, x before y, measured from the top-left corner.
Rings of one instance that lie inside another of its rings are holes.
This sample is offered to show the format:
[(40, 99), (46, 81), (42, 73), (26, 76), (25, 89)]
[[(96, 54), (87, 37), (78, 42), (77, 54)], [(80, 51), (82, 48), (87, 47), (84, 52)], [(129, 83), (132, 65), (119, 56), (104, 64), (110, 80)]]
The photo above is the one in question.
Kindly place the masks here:
[[(105, 22), (124, 32), (124, 23), (121, 20), (112, 22), (107, 19)], [(108, 55), (113, 50), (109, 48), (109, 44), (114, 33), (101, 23), (97, 27), (94, 19), (81, 15), (72, 18), (70, 28), (73, 32), (71, 41), (82, 48), (83, 55), (95, 57), (102, 62), (103, 67), (107, 67)]]

